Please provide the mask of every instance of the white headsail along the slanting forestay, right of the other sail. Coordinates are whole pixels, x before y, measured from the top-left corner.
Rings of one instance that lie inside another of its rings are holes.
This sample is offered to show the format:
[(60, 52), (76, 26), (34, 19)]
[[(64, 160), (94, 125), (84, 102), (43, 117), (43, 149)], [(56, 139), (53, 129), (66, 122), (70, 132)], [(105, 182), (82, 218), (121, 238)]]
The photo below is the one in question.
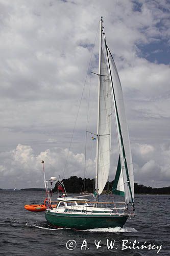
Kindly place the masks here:
[[(118, 136), (118, 144), (119, 144), (120, 162), (122, 165), (121, 172), (119, 175), (119, 180), (118, 180), (119, 187), (117, 187), (117, 190), (120, 190), (123, 192), (125, 191), (125, 199), (126, 199), (126, 203), (128, 204), (129, 202), (132, 202), (132, 198), (134, 201), (134, 178), (133, 178), (131, 147), (130, 147), (129, 133), (128, 133), (126, 115), (125, 115), (122, 86), (120, 83), (120, 79), (117, 73), (114, 60), (110, 52), (108, 52), (108, 58), (110, 63), (110, 72), (111, 72), (113, 90), (114, 90), (114, 92), (112, 91), (112, 94), (114, 94), (113, 99), (115, 96), (114, 110), (115, 110), (115, 119), (116, 119), (117, 136)], [(120, 137), (121, 134), (119, 133), (119, 131), (121, 131), (122, 133), (122, 140), (121, 140), (121, 137)], [(122, 146), (122, 142), (123, 142), (123, 146)], [(125, 152), (125, 154), (123, 151)], [(126, 156), (132, 197), (131, 197), (130, 189), (127, 183), (127, 173), (125, 168), (124, 156)], [(123, 187), (123, 184), (124, 184), (124, 187)]]

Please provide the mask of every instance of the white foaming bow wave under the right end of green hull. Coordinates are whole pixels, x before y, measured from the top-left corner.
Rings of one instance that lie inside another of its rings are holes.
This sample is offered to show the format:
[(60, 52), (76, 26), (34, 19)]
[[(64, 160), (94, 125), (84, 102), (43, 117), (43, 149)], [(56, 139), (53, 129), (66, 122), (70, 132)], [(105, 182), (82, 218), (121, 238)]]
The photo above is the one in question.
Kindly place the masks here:
[(86, 229), (82, 231), (90, 231), (90, 232), (110, 232), (110, 233), (120, 233), (120, 232), (137, 232), (137, 230), (133, 227), (106, 227), (106, 228), (93, 228)]

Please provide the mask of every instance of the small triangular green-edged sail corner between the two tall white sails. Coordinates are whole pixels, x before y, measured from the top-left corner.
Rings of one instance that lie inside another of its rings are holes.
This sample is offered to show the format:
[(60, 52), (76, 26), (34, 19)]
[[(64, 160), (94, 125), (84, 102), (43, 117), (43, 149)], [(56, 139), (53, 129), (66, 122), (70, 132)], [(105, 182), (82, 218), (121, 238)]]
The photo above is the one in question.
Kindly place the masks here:
[(120, 156), (118, 158), (118, 164), (117, 164), (115, 179), (113, 182), (112, 193), (114, 195), (125, 196), (124, 180), (123, 180)]

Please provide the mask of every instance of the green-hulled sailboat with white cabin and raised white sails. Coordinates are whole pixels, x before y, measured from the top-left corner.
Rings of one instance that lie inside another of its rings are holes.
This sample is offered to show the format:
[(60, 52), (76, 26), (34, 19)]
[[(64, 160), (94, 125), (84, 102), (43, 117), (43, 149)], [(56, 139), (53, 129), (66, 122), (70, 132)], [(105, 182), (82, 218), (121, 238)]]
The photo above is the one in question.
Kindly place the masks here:
[[(47, 222), (55, 227), (92, 229), (123, 227), (135, 216), (134, 178), (131, 147), (125, 116), (122, 86), (117, 68), (106, 43), (103, 18), (100, 20), (98, 123), (96, 132), (96, 177), (93, 200), (76, 197), (58, 198), (55, 208), (45, 211)], [(114, 115), (112, 115), (112, 106)], [(125, 202), (100, 202), (110, 170), (111, 117), (114, 116), (119, 158), (112, 193)]]

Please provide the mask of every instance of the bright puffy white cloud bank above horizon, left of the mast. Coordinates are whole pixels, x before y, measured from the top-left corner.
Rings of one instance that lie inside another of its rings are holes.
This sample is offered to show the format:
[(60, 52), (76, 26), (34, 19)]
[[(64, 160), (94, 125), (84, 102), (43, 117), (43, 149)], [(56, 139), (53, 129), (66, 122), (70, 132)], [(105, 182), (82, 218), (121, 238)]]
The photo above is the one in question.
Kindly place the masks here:
[[(18, 144), (14, 150), (0, 153), (0, 161), (3, 162), (0, 165), (0, 187), (43, 187), (42, 160), (45, 162), (46, 179), (58, 175), (62, 178), (84, 175), (85, 158), (82, 153), (74, 154), (70, 151), (68, 154), (68, 149), (53, 147), (36, 155), (31, 146)], [(86, 165), (93, 178), (94, 162), (87, 159)]]

